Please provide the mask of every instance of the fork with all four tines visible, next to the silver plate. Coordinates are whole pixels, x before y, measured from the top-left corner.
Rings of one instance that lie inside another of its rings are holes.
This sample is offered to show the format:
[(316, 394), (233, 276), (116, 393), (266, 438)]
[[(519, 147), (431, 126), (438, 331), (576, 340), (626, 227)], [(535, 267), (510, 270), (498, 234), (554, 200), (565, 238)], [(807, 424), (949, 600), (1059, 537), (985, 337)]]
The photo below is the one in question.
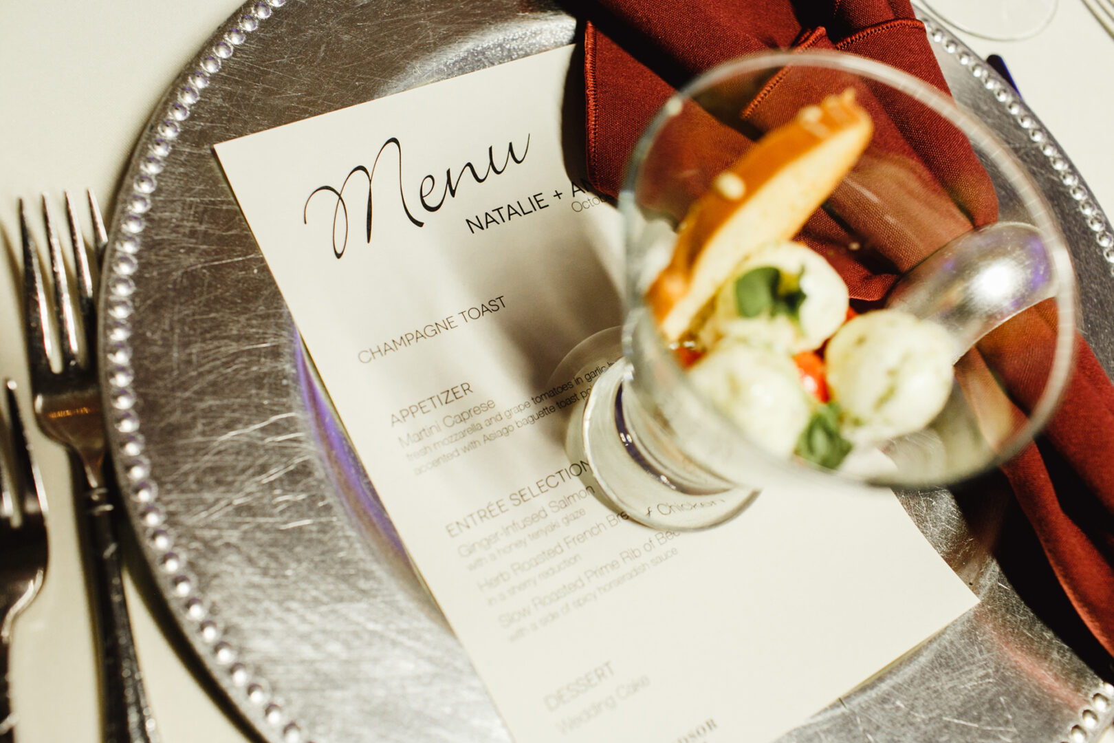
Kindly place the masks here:
[[(86, 250), (74, 202), (66, 194), (70, 247), (77, 278), (77, 294), (69, 289), (61, 241), (55, 229), (47, 197), (42, 197), (42, 221), (50, 248), (53, 274), (53, 313), (57, 333), (51, 336), (61, 359), (60, 371), (50, 366), (48, 329), (50, 311), (43, 289), (38, 247), (27, 227), (22, 199), (19, 222), (23, 247), (23, 322), (35, 418), (42, 432), (66, 446), (71, 461), (80, 465), (82, 487), (76, 492), (75, 514), (85, 549), (90, 584), (92, 620), (99, 649), (101, 724), (105, 743), (155, 743), (155, 720), (136, 659), (131, 623), (128, 619), (113, 491), (105, 479), (105, 423), (97, 382), (97, 315), (94, 265), (100, 263), (108, 242), (104, 219), (92, 192), (87, 192), (94, 226), (94, 261)], [(76, 305), (76, 313), (75, 313)]]

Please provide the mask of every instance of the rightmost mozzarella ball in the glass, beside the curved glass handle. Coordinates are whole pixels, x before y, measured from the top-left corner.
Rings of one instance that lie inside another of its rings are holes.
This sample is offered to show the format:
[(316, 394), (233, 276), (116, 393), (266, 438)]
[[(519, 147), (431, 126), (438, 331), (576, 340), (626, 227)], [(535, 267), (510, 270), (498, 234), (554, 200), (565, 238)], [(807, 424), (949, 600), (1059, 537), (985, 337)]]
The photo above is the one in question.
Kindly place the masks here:
[(955, 343), (941, 326), (896, 310), (854, 317), (828, 343), (828, 389), (856, 443), (928, 426), (951, 393)]

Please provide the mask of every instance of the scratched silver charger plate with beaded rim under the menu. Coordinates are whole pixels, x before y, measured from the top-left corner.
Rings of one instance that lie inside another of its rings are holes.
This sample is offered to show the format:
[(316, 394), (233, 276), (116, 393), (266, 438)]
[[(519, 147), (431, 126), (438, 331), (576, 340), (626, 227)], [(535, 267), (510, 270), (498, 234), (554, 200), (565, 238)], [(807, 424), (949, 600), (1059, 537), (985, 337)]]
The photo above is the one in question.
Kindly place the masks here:
[[(574, 32), (530, 0), (248, 2), (137, 144), (101, 306), (117, 473), (150, 590), (215, 692), (268, 741), (509, 736), (338, 428), (211, 146)], [(960, 104), (999, 130), (1061, 215), (1086, 334), (1114, 369), (1108, 223), (1000, 80), (934, 25), (929, 36)], [(785, 740), (1096, 737), (1114, 714), (1114, 686), (1097, 675), (1111, 668), (1046, 590), (1016, 508), (980, 486), (903, 502), (981, 604)]]

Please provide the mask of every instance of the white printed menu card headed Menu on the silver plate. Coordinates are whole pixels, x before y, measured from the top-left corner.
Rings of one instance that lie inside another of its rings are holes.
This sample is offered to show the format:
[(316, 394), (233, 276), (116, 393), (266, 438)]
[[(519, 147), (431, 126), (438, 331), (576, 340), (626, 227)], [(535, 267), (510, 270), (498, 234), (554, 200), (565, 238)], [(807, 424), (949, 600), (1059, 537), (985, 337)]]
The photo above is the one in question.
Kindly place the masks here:
[(583, 126), (563, 109), (569, 59), (557, 49), (216, 153), (515, 739), (760, 743), (976, 599), (888, 491), (768, 483), (732, 522), (684, 535), (596, 500), (563, 446), (588, 381), (548, 384), (620, 321), (617, 214), (563, 148)]

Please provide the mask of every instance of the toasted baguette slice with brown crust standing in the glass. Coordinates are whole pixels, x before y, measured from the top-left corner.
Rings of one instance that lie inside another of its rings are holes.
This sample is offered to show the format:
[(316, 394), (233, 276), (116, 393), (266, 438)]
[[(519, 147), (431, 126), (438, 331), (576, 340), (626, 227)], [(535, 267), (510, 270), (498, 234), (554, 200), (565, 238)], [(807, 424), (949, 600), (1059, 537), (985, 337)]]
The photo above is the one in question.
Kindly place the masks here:
[(646, 293), (666, 339), (690, 330), (743, 258), (795, 235), (872, 134), (870, 116), (848, 88), (802, 108), (716, 176), (681, 223), (673, 260)]

